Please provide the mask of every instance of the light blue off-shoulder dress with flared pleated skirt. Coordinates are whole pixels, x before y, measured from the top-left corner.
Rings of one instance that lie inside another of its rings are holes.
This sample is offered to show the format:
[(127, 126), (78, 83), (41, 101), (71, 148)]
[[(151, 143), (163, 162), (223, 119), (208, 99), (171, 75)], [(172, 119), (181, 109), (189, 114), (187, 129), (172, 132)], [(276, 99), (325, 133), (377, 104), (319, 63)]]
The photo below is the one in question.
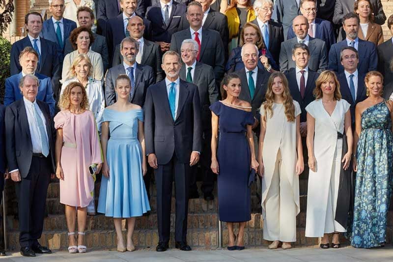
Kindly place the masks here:
[(143, 182), (138, 120), (143, 121), (141, 109), (105, 109), (103, 113), (103, 122), (109, 122), (111, 134), (107, 144), (109, 178), (102, 176), (97, 211), (108, 217), (136, 217), (150, 210)]

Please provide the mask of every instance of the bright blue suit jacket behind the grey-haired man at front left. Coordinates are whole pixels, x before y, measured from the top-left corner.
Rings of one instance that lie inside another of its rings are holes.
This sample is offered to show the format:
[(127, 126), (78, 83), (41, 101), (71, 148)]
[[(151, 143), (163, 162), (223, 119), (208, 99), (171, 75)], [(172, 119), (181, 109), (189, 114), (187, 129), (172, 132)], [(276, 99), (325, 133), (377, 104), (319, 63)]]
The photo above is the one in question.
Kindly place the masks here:
[[(38, 73), (35, 73), (34, 75), (40, 81), (36, 98), (47, 103), (51, 111), (51, 116), (55, 116), (56, 101), (53, 97), (51, 78)], [(13, 75), (5, 80), (5, 106), (23, 98), (21, 89), (19, 88), (19, 81), (22, 77), (22, 72), (20, 72), (19, 74)]]

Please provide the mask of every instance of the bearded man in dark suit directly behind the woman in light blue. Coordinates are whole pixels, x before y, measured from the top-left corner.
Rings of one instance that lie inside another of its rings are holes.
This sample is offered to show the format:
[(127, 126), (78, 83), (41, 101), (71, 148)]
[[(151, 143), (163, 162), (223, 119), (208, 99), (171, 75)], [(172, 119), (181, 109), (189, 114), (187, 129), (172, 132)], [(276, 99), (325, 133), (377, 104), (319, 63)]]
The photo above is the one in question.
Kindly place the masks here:
[(116, 78), (118, 75), (126, 74), (131, 80), (130, 102), (143, 107), (146, 89), (154, 84), (153, 69), (148, 65), (141, 65), (136, 62), (136, 57), (140, 51), (137, 40), (126, 37), (121, 41), (121, 54), (123, 63), (110, 68), (105, 77), (105, 101), (107, 106), (112, 105), (117, 100), (117, 93), (114, 91)]

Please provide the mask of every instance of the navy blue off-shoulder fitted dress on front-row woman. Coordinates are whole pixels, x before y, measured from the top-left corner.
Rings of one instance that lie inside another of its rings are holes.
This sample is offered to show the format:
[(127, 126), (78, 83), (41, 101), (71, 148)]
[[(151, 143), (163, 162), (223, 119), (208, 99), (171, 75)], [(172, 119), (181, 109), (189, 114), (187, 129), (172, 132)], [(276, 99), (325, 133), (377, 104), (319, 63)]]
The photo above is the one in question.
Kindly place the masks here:
[(232, 108), (218, 101), (210, 106), (219, 116), (218, 204), (219, 216), (225, 222), (251, 219), (251, 194), (248, 186), (251, 153), (247, 142), (247, 125), (254, 122), (253, 114)]

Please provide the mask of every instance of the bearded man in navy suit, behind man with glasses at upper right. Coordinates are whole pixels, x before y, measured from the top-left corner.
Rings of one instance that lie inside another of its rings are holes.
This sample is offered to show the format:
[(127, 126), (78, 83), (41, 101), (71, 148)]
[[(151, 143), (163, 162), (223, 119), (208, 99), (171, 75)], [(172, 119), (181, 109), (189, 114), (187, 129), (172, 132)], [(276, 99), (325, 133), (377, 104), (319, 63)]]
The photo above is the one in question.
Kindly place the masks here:
[(332, 45), (329, 52), (328, 68), (338, 74), (343, 73), (344, 67), (339, 63), (340, 53), (344, 47), (352, 46), (358, 51), (361, 58), (358, 64), (359, 74), (364, 75), (369, 71), (377, 70), (378, 56), (374, 43), (358, 38), (359, 17), (355, 13), (346, 14), (342, 19), (342, 26), (346, 32), (346, 39)]

